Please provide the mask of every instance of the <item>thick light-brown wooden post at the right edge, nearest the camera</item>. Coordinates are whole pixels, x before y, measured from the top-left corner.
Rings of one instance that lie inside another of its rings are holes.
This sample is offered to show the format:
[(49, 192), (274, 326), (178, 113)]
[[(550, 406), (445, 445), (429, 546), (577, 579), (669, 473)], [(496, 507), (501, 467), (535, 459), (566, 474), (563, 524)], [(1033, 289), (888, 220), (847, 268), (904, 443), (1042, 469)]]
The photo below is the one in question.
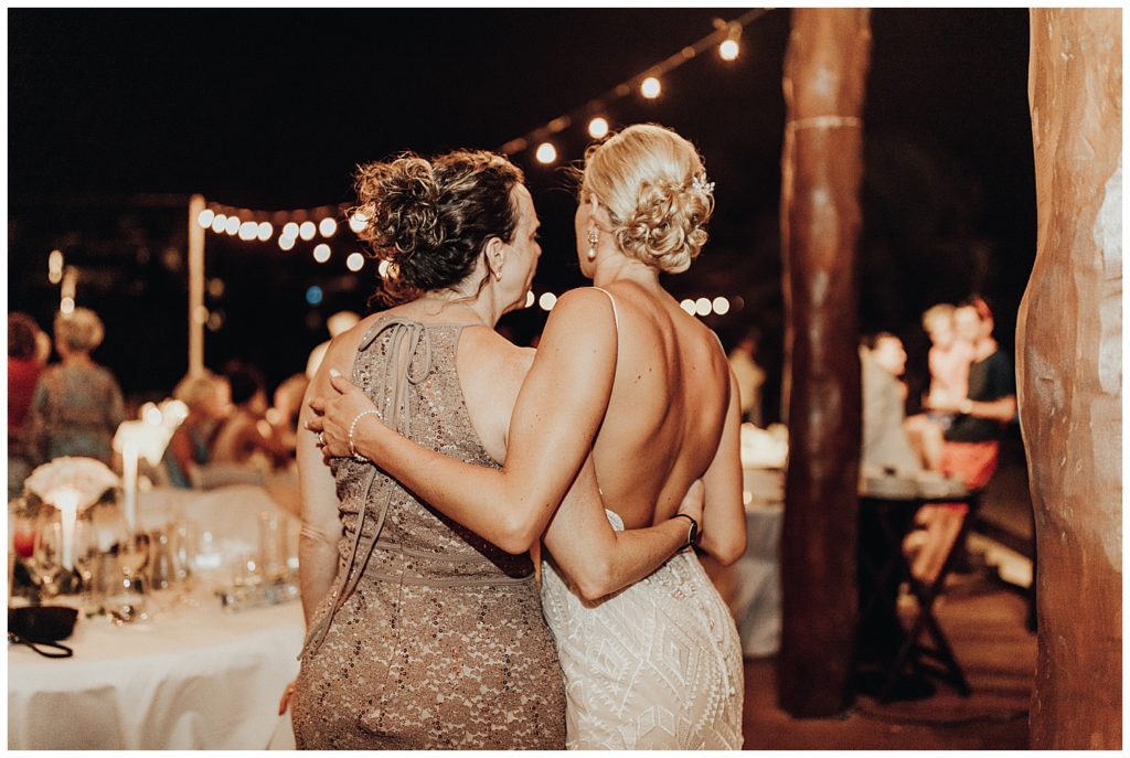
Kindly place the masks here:
[(1031, 747), (1122, 747), (1122, 11), (1031, 11), (1038, 233), (1017, 325), (1036, 522)]

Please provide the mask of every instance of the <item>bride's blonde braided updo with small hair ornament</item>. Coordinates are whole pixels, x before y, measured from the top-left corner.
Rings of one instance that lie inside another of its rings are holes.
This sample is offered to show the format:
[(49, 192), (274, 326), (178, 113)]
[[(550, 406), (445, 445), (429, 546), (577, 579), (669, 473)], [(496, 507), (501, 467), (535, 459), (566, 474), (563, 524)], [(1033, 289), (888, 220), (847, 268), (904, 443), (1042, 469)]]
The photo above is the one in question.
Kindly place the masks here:
[(634, 124), (585, 151), (581, 202), (608, 211), (620, 251), (668, 273), (686, 271), (706, 244), (714, 195), (689, 141)]

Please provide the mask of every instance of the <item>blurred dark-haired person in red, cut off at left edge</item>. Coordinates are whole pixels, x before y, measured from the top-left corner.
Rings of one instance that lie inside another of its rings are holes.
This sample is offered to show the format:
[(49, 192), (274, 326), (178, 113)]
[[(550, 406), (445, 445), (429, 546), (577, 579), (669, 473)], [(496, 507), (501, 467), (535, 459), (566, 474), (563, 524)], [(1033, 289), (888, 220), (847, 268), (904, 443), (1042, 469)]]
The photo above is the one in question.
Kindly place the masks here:
[(37, 349), (40, 326), (25, 313), (8, 314), (8, 497), (19, 494), (32, 471), (33, 459), (25, 441), (32, 393), (43, 373)]

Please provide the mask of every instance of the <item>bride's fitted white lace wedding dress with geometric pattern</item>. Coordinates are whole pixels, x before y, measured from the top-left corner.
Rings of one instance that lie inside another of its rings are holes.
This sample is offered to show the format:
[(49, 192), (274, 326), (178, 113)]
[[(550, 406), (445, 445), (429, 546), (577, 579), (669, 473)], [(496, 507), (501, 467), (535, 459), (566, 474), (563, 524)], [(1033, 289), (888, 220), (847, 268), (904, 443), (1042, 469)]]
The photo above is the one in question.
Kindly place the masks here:
[(547, 560), (541, 603), (565, 673), (571, 750), (741, 748), (741, 643), (693, 551), (594, 603)]

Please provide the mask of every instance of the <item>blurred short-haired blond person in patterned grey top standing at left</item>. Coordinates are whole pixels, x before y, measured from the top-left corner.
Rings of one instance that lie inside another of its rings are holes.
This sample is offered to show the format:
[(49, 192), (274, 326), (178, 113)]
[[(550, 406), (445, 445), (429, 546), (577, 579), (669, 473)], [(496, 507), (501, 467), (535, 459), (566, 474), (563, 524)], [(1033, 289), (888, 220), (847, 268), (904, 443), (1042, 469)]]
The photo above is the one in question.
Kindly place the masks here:
[(44, 369), (32, 398), (28, 439), (35, 460), (82, 455), (108, 465), (125, 409), (114, 375), (90, 358), (105, 336), (102, 320), (89, 308), (75, 308), (55, 316), (54, 331), (62, 363)]

